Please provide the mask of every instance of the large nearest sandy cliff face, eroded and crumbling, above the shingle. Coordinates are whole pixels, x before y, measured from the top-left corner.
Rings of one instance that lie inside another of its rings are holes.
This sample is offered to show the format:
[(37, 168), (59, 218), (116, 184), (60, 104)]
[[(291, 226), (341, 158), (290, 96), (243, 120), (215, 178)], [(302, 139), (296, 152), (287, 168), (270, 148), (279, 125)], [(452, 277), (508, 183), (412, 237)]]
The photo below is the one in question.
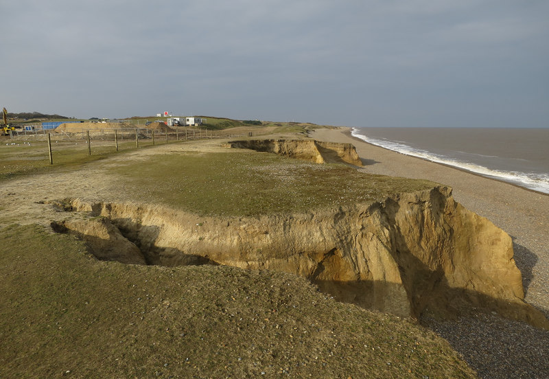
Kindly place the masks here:
[[(549, 328), (523, 301), (511, 238), (456, 203), (447, 187), (370, 205), (260, 218), (208, 218), (160, 206), (79, 200), (72, 205), (103, 218), (58, 228), (88, 240), (92, 252), (102, 251), (96, 254), (101, 259), (268, 268), (307, 277), (341, 301), (402, 317), (427, 310), (452, 317), (480, 307)], [(125, 255), (109, 257), (99, 242), (120, 241), (119, 233), (139, 249), (125, 241)]]

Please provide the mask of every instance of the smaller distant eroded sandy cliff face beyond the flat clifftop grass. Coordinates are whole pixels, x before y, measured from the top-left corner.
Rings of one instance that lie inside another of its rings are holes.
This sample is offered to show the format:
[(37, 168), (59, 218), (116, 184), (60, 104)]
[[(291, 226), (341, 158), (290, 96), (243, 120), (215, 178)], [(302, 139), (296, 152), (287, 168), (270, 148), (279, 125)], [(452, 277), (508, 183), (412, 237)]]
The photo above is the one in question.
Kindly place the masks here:
[(231, 141), (229, 146), (273, 152), (314, 163), (349, 163), (362, 167), (362, 161), (351, 143), (322, 142), (314, 139), (250, 139)]

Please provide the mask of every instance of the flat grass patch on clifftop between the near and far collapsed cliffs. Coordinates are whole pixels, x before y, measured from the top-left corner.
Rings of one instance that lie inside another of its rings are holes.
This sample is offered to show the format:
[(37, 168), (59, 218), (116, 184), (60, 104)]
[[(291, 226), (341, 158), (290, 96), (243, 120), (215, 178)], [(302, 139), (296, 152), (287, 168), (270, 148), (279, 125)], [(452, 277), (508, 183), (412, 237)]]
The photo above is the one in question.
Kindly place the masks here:
[(110, 170), (134, 200), (206, 216), (301, 213), (371, 203), (435, 185), (250, 150), (159, 154)]

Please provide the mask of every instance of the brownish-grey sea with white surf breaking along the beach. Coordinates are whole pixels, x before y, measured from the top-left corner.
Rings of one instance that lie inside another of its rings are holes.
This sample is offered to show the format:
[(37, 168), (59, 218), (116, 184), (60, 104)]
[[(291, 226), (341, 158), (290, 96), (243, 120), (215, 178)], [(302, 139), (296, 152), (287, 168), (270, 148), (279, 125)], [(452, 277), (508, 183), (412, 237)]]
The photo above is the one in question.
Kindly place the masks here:
[(353, 128), (352, 135), (549, 194), (549, 128)]

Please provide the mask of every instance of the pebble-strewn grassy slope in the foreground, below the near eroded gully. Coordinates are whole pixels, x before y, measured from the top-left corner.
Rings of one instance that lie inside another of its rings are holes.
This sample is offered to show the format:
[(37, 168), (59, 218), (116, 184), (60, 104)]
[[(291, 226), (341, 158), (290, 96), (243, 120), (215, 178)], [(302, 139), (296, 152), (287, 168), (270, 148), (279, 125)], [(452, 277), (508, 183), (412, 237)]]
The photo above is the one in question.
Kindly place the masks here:
[(0, 233), (0, 378), (474, 378), (434, 333), (294, 275), (99, 262), (42, 227)]

